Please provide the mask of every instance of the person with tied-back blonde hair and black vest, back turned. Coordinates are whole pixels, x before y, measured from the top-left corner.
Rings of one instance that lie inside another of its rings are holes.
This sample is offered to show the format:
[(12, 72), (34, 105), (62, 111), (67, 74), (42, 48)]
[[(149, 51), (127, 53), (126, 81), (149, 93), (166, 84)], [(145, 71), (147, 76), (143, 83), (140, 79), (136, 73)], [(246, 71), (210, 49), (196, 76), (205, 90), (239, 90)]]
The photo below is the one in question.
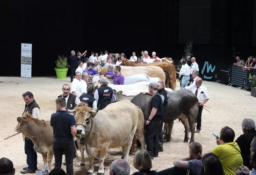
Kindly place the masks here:
[(93, 91), (95, 90), (95, 85), (93, 82), (87, 83), (87, 93), (80, 96), (80, 101), (87, 104), (89, 107), (97, 109), (97, 101), (93, 96)]

